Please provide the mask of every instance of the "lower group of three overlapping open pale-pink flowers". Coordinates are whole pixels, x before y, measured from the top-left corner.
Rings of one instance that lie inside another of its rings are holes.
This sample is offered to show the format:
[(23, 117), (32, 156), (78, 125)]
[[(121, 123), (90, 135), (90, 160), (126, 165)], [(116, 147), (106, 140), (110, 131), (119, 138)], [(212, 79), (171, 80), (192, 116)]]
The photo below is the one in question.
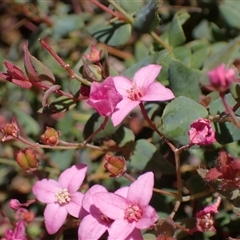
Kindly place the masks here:
[(82, 219), (78, 239), (99, 239), (106, 231), (108, 239), (143, 239), (140, 230), (150, 228), (158, 220), (155, 209), (149, 205), (153, 173), (139, 176), (129, 187), (115, 193), (94, 185), (84, 195), (78, 189), (86, 172), (85, 164), (77, 164), (62, 172), (58, 181), (42, 179), (34, 184), (34, 195), (47, 204), (44, 210), (47, 232), (56, 233), (70, 214)]

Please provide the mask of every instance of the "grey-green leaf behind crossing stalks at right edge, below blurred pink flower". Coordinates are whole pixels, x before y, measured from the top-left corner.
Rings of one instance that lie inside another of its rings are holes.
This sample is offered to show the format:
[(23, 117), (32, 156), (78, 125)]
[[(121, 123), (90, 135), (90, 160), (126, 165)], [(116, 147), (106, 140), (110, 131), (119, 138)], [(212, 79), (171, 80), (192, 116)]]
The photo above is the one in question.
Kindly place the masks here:
[[(231, 94), (225, 95), (226, 101), (229, 106), (234, 106), (236, 101), (233, 99)], [(225, 107), (222, 103), (222, 100), (218, 98), (210, 104), (210, 114), (217, 115), (225, 111)], [(240, 114), (240, 109), (236, 111), (236, 113)], [(216, 139), (221, 144), (231, 143), (234, 141), (240, 140), (240, 129), (237, 128), (233, 123), (214, 123), (216, 130)]]

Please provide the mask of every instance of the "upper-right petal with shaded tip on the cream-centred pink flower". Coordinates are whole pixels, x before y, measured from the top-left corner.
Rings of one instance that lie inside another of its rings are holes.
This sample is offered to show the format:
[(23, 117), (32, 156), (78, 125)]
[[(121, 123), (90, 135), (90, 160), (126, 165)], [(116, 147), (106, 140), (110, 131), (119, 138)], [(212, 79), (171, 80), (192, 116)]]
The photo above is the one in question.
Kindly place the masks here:
[(69, 193), (75, 193), (81, 186), (86, 172), (86, 164), (73, 165), (61, 173), (58, 182), (62, 188), (67, 188)]

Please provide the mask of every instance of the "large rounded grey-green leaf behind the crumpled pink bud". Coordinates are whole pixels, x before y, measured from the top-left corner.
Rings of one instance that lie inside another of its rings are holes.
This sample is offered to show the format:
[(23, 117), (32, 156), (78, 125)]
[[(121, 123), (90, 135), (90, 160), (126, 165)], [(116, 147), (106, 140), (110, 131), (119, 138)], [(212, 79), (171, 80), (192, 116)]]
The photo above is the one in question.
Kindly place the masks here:
[(159, 130), (166, 138), (180, 145), (189, 143), (187, 134), (190, 125), (198, 118), (206, 118), (207, 110), (190, 98), (180, 96), (167, 104), (162, 115), (162, 126)]

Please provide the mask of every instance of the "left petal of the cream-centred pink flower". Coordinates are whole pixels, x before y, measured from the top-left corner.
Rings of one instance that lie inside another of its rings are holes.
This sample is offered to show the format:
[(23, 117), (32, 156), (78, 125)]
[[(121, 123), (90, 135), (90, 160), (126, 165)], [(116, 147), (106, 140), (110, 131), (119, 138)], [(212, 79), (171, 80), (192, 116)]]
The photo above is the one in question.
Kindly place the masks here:
[(59, 183), (53, 179), (42, 179), (37, 181), (32, 188), (37, 200), (43, 203), (56, 201), (55, 193), (61, 189)]

